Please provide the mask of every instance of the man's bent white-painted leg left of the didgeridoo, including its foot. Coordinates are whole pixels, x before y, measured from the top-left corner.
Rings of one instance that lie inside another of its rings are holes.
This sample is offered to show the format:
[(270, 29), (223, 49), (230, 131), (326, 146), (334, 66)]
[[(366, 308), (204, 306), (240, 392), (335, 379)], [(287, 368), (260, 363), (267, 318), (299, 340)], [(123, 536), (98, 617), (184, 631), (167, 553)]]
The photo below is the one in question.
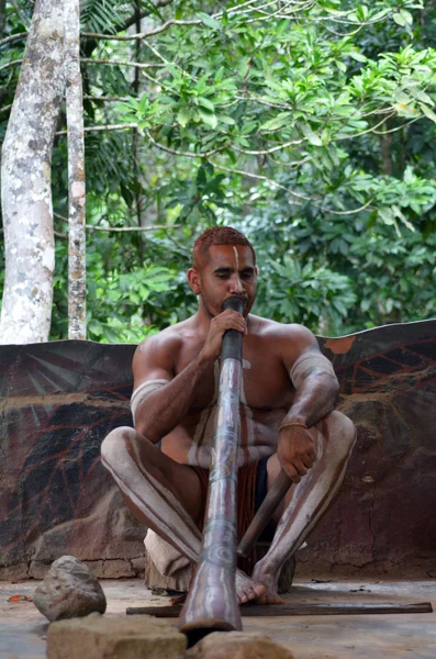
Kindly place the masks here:
[[(133, 514), (191, 562), (197, 562), (201, 533), (193, 521), (200, 500), (195, 472), (165, 456), (130, 427), (116, 428), (108, 435), (101, 445), (101, 460)], [(238, 571), (236, 591), (239, 603), (244, 603), (264, 596), (266, 589)]]

